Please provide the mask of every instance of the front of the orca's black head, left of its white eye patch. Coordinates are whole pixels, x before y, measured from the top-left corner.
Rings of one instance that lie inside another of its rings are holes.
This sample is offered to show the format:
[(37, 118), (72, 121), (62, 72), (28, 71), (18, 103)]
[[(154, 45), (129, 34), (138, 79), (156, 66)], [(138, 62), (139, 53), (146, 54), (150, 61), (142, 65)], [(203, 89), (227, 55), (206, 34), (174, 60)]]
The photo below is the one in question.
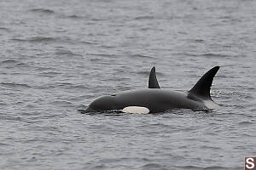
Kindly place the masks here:
[(85, 112), (98, 112), (98, 111), (111, 111), (116, 108), (117, 102), (114, 98), (115, 95), (103, 96), (94, 100)]

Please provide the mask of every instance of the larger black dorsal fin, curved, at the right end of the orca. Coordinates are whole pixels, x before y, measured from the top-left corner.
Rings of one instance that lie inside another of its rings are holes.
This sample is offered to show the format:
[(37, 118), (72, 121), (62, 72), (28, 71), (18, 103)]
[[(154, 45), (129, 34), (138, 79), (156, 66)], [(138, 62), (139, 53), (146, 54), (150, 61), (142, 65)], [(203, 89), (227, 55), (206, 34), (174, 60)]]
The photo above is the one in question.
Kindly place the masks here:
[(203, 77), (201, 77), (198, 82), (196, 82), (195, 86), (189, 90), (189, 93), (194, 94), (201, 99), (212, 99), (210, 95), (210, 90), (213, 77), (218, 72), (218, 69), (219, 66), (215, 66), (210, 71), (207, 71), (207, 73)]

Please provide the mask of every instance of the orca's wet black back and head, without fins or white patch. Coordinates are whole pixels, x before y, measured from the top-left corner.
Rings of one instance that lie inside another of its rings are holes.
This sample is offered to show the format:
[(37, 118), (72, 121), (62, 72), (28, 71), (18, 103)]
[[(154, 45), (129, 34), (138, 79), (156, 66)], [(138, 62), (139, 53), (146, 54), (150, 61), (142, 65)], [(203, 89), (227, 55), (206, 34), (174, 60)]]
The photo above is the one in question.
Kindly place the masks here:
[(191, 99), (188, 94), (159, 88), (130, 90), (93, 101), (86, 112), (122, 110), (127, 106), (146, 107), (150, 112), (162, 112), (172, 109), (204, 110), (207, 107), (200, 101)]

